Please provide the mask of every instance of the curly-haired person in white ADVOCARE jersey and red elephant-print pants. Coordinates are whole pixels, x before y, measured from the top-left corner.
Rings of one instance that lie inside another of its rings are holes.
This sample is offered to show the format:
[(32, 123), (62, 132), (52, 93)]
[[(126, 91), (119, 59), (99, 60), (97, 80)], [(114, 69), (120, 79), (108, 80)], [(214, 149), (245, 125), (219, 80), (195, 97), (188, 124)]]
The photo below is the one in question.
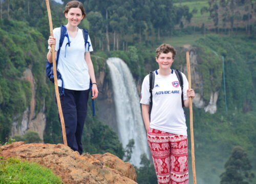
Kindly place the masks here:
[[(142, 83), (140, 103), (158, 183), (188, 184), (187, 127), (181, 102), (181, 87), (174, 70), (170, 68), (175, 55), (175, 49), (169, 44), (163, 43), (157, 48), (156, 61), (159, 69), (155, 71), (151, 114), (148, 75)], [(188, 97), (194, 98), (195, 92), (188, 89), (183, 73), (182, 77), (184, 106), (188, 107)]]

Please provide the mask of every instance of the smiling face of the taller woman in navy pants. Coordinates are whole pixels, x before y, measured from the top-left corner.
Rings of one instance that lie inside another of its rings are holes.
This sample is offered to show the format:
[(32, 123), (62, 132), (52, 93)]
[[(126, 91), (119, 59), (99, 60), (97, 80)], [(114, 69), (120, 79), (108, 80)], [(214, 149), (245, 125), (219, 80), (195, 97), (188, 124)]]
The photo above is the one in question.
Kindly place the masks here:
[(83, 19), (82, 11), (80, 8), (71, 8), (68, 13), (65, 13), (68, 18), (68, 24), (71, 26), (78, 26)]

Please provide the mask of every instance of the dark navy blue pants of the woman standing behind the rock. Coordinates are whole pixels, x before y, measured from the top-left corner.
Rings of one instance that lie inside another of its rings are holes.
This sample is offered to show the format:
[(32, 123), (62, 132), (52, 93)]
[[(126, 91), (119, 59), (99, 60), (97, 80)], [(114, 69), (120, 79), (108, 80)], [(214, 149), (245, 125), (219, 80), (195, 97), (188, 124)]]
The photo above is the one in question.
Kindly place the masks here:
[(60, 97), (60, 103), (66, 127), (68, 146), (82, 154), (82, 130), (87, 116), (89, 89), (65, 89), (64, 93), (65, 96), (62, 95)]

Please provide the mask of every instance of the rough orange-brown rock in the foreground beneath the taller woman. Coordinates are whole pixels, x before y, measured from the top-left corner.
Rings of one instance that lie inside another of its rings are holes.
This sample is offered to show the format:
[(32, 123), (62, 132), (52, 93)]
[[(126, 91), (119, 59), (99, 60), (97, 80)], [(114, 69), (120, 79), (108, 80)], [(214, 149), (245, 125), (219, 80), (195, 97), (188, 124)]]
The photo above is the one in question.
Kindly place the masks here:
[(17, 157), (51, 168), (66, 184), (137, 183), (134, 167), (111, 153), (79, 155), (63, 144), (15, 142), (0, 146), (0, 156)]

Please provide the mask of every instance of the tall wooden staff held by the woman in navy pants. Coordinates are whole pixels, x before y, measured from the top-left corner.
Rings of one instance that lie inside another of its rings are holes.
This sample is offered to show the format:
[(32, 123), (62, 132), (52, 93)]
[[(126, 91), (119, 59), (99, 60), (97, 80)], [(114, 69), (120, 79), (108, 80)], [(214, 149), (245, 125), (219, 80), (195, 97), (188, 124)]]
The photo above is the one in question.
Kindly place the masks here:
[[(53, 37), (52, 15), (51, 15), (49, 0), (46, 0), (46, 7), (47, 7), (47, 12), (48, 12), (48, 17), (49, 17), (50, 35)], [(58, 89), (58, 82), (57, 82), (56, 59), (55, 59), (55, 44), (52, 44), (51, 50), (52, 50), (52, 62), (53, 62), (55, 94), (56, 94), (58, 111), (59, 111), (59, 119), (60, 119), (60, 122), (61, 122), (63, 143), (65, 145), (68, 145), (67, 136), (66, 136), (65, 122), (64, 122), (63, 113), (62, 113), (61, 104), (60, 104), (60, 99), (59, 99), (59, 89)]]

